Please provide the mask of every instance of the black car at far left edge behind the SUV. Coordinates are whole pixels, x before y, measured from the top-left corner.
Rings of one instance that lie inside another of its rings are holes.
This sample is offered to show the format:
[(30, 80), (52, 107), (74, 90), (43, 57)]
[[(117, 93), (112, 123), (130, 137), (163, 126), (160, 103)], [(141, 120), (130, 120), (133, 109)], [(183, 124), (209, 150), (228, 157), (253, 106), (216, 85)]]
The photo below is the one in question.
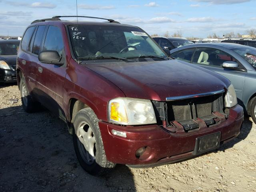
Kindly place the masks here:
[(16, 60), (20, 40), (0, 41), (0, 82), (17, 82)]

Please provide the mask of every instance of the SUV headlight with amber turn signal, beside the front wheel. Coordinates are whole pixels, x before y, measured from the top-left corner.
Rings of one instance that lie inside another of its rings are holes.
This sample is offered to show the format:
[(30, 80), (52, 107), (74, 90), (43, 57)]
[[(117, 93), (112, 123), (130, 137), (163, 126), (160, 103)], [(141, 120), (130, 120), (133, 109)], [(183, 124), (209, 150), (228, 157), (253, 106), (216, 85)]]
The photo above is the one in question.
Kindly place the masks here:
[(122, 125), (156, 123), (156, 116), (150, 100), (115, 98), (108, 102), (109, 122)]

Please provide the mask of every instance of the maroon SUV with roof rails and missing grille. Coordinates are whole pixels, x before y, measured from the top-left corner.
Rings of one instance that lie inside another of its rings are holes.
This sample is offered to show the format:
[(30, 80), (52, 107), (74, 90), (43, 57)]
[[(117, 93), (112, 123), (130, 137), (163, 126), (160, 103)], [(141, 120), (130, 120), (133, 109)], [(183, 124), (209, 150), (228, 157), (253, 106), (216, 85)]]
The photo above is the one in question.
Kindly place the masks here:
[(68, 124), (81, 166), (158, 166), (218, 148), (243, 122), (223, 76), (168, 57), (141, 28), (36, 20), (18, 52), (22, 105)]

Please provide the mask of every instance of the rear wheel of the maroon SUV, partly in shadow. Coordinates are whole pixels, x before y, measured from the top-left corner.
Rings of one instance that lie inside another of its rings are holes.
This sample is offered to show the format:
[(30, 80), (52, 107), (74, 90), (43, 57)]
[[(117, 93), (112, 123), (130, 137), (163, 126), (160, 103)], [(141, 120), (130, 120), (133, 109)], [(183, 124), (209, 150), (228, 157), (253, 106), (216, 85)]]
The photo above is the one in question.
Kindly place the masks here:
[(40, 104), (32, 100), (32, 97), (28, 91), (24, 76), (20, 80), (20, 97), (22, 107), (28, 113), (36, 112), (40, 108)]

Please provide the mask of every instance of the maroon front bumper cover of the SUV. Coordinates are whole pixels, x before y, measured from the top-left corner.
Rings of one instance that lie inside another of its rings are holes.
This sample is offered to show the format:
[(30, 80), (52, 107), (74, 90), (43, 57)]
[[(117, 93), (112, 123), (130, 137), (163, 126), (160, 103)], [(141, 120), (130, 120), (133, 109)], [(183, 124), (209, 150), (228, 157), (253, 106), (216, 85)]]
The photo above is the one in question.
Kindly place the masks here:
[[(118, 126), (99, 122), (106, 157), (110, 162), (131, 167), (153, 167), (177, 162), (195, 156), (196, 138), (220, 132), (220, 144), (232, 140), (240, 133), (244, 120), (243, 108), (230, 108), (226, 121), (213, 127), (203, 127), (194, 132), (169, 133), (158, 125)], [(126, 132), (126, 138), (112, 134), (112, 129)], [(149, 147), (148, 157), (140, 160), (136, 151)]]

